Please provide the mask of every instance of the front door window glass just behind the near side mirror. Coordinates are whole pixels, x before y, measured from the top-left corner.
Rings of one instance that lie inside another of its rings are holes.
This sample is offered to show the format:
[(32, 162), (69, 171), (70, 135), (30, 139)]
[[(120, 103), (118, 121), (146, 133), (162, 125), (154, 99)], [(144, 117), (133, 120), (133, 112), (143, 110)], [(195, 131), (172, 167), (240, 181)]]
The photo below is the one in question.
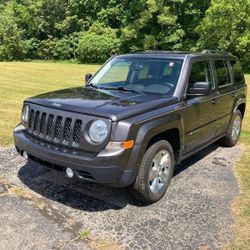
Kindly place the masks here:
[(188, 88), (192, 88), (196, 82), (209, 82), (211, 84), (211, 79), (210, 63), (208, 61), (195, 62), (192, 64)]

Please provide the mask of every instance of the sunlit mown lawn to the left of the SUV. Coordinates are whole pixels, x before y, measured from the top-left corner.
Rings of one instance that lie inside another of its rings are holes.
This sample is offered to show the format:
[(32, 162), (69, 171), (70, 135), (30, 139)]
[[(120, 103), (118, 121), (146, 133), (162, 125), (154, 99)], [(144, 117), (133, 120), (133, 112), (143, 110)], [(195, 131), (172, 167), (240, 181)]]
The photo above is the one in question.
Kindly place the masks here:
[(23, 100), (29, 96), (84, 84), (98, 65), (51, 62), (0, 62), (0, 146), (12, 144)]

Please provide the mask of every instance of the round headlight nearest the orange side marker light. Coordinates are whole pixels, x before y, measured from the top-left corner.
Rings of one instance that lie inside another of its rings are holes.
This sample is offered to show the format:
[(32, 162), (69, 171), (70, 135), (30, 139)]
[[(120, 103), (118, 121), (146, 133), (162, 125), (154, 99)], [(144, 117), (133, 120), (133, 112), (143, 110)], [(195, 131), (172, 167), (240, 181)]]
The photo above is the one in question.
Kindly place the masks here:
[(108, 126), (103, 120), (94, 121), (89, 128), (90, 139), (94, 142), (103, 142), (108, 136)]

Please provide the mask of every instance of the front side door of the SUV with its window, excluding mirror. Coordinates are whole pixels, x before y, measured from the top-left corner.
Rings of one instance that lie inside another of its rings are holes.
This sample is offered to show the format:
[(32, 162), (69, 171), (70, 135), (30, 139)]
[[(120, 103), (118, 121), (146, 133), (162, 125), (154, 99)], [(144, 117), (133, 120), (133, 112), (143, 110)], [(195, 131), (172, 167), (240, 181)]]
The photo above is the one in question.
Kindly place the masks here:
[(211, 92), (207, 96), (186, 96), (184, 113), (185, 148), (184, 154), (189, 153), (215, 137), (217, 91), (212, 74), (211, 60), (195, 60), (187, 82), (187, 92), (195, 82), (209, 82)]

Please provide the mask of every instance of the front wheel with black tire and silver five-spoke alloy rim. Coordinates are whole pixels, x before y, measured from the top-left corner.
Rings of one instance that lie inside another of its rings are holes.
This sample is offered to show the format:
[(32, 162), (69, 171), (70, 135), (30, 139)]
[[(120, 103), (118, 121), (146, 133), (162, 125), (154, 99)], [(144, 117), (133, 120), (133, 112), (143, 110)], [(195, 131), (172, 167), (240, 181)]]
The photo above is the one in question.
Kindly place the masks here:
[(174, 172), (174, 153), (167, 141), (158, 141), (146, 151), (131, 193), (137, 200), (154, 203), (167, 191)]

